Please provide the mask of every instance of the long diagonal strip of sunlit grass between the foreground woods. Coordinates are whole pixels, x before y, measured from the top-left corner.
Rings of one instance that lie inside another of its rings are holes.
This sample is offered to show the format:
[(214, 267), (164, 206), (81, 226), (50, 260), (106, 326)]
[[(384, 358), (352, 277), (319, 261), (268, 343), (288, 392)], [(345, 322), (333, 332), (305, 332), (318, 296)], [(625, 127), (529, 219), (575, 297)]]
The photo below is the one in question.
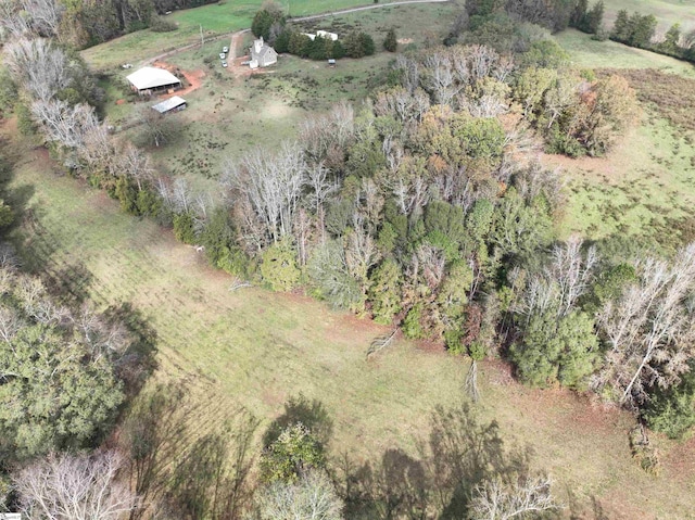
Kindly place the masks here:
[[(333, 419), (333, 455), (375, 461), (401, 447), (417, 457), (434, 407), (465, 398), (465, 358), (397, 341), (366, 360), (369, 342), (389, 329), (301, 295), (231, 292), (231, 279), (193, 248), (55, 175), (45, 151), (16, 142), (13, 153), (11, 188), (29, 208), (26, 265), (72, 278), (99, 305), (131, 302), (142, 310), (160, 338), (156, 379), (186, 385), (200, 405), (197, 435), (220, 428), (240, 406), (265, 426), (302, 392)], [(687, 518), (694, 510), (692, 443), (653, 436), (664, 464), (653, 478), (630, 456), (629, 415), (570, 392), (526, 389), (500, 364), (481, 370), (479, 413), (498, 420), (509, 445), (533, 452), (568, 515), (592, 510), (594, 499), (607, 518)]]

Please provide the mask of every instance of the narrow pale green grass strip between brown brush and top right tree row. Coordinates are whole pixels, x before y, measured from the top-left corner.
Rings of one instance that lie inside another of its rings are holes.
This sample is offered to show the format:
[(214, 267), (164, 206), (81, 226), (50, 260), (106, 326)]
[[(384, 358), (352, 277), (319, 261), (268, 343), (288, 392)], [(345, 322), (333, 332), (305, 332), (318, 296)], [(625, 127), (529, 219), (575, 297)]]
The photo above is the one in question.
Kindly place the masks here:
[(553, 36), (580, 68), (658, 68), (661, 72), (695, 78), (695, 65), (655, 52), (635, 49), (615, 41), (595, 41), (574, 29)]

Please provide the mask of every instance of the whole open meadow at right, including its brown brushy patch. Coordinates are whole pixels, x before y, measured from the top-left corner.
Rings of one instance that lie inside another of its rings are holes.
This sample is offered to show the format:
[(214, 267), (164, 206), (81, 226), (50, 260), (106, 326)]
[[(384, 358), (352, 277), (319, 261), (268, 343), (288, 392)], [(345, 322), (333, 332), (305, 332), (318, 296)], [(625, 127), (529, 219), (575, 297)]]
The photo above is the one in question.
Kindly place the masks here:
[(569, 185), (563, 234), (648, 237), (666, 245), (695, 239), (695, 66), (572, 29), (554, 38), (574, 66), (627, 77), (643, 111), (606, 157), (544, 156)]

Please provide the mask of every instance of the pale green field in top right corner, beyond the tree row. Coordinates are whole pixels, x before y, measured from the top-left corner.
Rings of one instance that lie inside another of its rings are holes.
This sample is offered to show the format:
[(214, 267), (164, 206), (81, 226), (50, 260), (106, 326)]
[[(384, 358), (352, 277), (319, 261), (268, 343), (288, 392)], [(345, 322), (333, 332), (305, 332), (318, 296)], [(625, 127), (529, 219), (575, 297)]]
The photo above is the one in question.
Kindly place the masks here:
[(612, 27), (621, 9), (630, 13), (654, 14), (659, 21), (658, 30), (662, 33), (675, 23), (680, 23), (683, 29), (695, 28), (695, 0), (604, 0), (604, 3), (608, 28)]

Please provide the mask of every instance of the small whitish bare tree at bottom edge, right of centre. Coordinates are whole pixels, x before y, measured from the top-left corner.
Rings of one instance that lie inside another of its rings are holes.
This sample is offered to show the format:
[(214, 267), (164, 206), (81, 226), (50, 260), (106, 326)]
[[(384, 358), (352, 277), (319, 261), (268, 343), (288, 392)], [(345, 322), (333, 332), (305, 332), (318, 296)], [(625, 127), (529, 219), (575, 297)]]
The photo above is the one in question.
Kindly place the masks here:
[(494, 479), (477, 485), (469, 506), (471, 520), (510, 520), (533, 518), (542, 511), (558, 509), (551, 494), (551, 479), (527, 478), (511, 485)]

